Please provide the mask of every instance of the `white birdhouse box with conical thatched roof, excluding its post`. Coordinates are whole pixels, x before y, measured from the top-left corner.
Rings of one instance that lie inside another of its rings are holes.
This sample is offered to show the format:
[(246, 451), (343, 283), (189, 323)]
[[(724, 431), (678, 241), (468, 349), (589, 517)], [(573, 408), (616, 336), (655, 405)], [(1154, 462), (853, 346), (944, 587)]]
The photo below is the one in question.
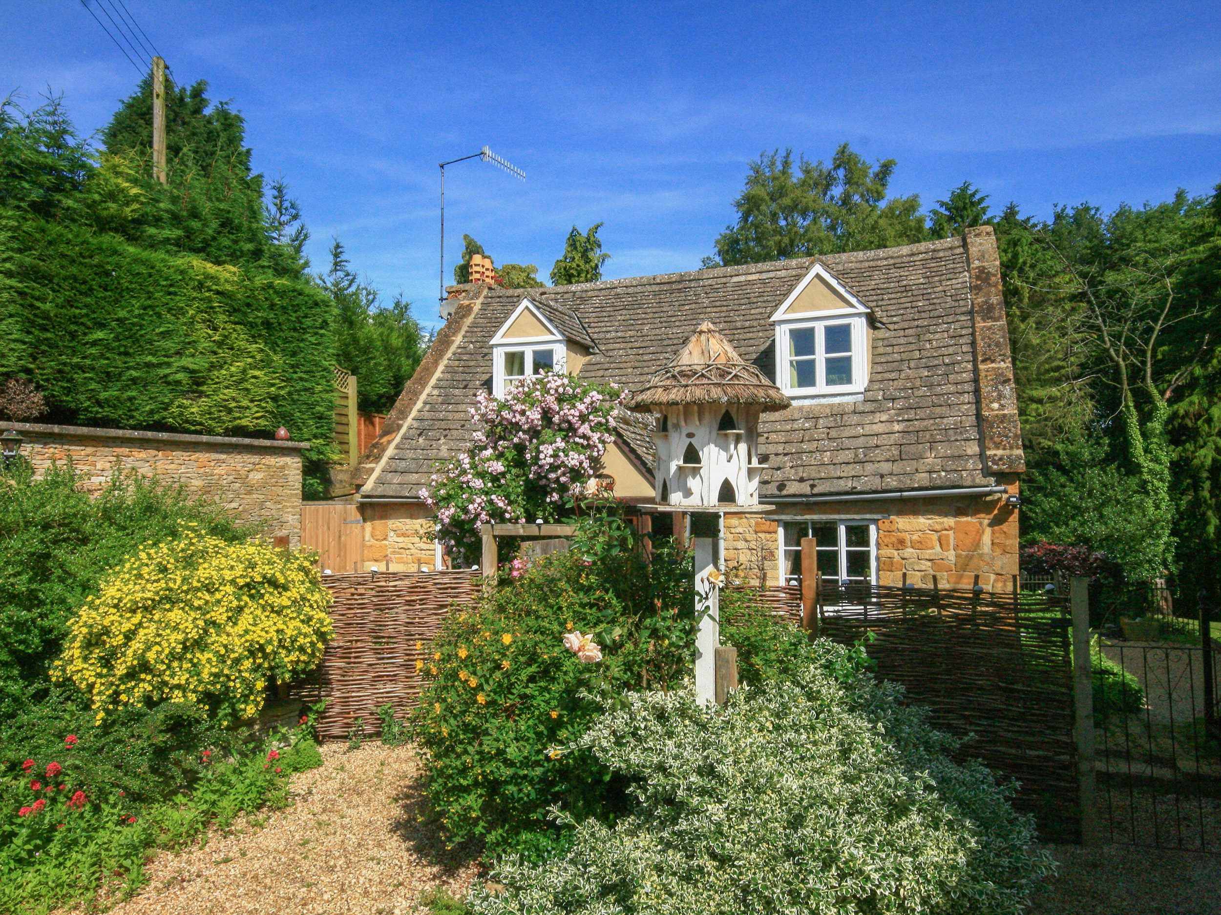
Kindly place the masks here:
[(658, 505), (757, 509), (759, 415), (789, 406), (789, 398), (705, 321), (628, 401), (636, 412), (661, 414), (653, 433)]

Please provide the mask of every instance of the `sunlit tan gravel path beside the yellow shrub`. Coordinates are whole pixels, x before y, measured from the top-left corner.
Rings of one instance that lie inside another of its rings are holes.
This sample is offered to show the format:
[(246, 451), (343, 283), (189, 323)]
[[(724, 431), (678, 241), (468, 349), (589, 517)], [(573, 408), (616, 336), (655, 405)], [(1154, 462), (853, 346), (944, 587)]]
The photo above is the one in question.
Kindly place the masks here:
[(465, 893), (476, 863), (438, 848), (418, 822), (410, 747), (322, 747), (325, 764), (293, 778), (295, 804), (258, 824), (165, 853), (149, 883), (115, 915), (407, 915), (420, 894)]

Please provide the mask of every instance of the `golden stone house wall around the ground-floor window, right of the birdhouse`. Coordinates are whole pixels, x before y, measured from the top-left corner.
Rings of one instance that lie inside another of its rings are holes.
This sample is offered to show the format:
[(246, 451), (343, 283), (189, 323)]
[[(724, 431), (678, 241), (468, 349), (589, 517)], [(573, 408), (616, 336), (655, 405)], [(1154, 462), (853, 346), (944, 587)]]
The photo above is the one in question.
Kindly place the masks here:
[[(1017, 494), (1016, 476), (1001, 481)], [(785, 505), (768, 515), (729, 515), (724, 525), (726, 569), (740, 569), (758, 582), (780, 583), (778, 522), (783, 518), (834, 516), (874, 520), (878, 526), (878, 583), (985, 590), (1012, 589), (1018, 573), (1018, 509), (1002, 495), (874, 499), (868, 501)], [(882, 517), (879, 517), (882, 516)]]

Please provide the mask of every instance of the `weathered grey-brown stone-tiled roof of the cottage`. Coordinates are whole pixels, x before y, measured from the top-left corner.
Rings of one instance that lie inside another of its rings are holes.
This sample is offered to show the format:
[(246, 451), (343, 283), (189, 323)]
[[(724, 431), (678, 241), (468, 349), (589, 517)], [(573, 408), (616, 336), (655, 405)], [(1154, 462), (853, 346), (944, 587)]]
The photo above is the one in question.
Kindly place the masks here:
[[(792, 406), (763, 416), (758, 451), (767, 465), (759, 489), (764, 501), (984, 486), (995, 482), (996, 472), (1022, 470), (995, 242), (990, 231), (977, 231), (969, 242), (972, 259), (983, 266), (968, 260), (968, 244), (961, 238), (821, 259), (884, 326), (873, 332), (862, 400)], [(641, 387), (706, 320), (746, 362), (774, 378), (775, 329), (768, 317), (813, 262), (551, 287), (530, 290), (530, 298), (551, 310), (547, 316), (557, 326), (563, 320), (565, 333), (575, 320), (586, 339), (596, 343), (596, 354), (581, 367), (581, 377), (590, 381)], [(976, 299), (983, 293), (990, 296), (988, 334), (982, 336), (973, 321), (973, 293)], [(469, 442), (466, 409), (476, 390), (491, 387), (488, 340), (523, 298), (520, 290), (486, 287), (479, 294), (462, 312), (460, 336), (449, 334), (444, 354), (430, 354), (430, 371), (440, 373), (413, 378), (404, 392), (404, 398), (413, 398), (410, 404), (396, 406), (399, 426), (383, 436), (380, 450), (374, 447), (372, 458), (365, 456), (364, 495), (416, 498), (436, 462)], [(977, 372), (987, 373), (983, 399)], [(645, 429), (623, 433), (652, 461)]]

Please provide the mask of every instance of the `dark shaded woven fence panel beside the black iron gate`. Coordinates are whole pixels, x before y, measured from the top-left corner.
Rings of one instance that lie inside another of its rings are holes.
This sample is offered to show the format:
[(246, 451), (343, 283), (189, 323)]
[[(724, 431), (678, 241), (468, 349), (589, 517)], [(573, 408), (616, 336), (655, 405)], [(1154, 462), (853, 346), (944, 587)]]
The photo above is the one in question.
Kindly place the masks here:
[[(801, 622), (801, 593), (759, 598)], [(1044, 838), (1079, 837), (1068, 601), (872, 586), (821, 594), (821, 634), (866, 651), (879, 677), (901, 684), (928, 721), (969, 737), (960, 758), (984, 761), (1021, 788), (1013, 805), (1033, 814)]]

